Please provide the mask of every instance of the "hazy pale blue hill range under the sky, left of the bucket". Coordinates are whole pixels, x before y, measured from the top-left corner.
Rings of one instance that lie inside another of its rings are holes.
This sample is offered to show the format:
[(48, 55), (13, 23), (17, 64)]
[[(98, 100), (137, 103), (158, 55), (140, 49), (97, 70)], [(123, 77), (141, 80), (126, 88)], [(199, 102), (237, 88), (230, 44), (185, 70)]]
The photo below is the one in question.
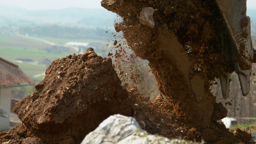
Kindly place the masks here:
[(116, 14), (105, 9), (64, 8), (58, 10), (26, 10), (0, 6), (0, 26), (34, 26), (57, 24), (62, 26), (113, 26)]

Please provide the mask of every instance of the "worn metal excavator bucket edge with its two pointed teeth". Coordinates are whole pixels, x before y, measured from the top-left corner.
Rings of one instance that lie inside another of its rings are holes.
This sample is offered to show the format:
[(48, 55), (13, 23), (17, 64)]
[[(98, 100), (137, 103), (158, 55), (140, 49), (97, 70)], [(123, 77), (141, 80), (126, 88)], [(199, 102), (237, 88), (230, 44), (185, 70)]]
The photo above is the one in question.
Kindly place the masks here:
[[(238, 74), (242, 95), (250, 91), (253, 48), (250, 18), (246, 16), (246, 0), (215, 0), (232, 41), (231, 57)], [(224, 54), (227, 55), (227, 54)], [(230, 74), (220, 76), (223, 98), (228, 98)]]

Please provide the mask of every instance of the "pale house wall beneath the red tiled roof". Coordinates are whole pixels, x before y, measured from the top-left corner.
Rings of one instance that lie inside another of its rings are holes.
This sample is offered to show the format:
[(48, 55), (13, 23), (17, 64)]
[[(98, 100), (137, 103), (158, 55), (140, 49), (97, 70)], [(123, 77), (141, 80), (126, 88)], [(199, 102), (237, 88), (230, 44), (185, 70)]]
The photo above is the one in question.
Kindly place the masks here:
[(9, 130), (10, 127), (11, 92), (12, 88), (0, 88), (0, 109), (8, 116), (0, 116), (0, 130)]

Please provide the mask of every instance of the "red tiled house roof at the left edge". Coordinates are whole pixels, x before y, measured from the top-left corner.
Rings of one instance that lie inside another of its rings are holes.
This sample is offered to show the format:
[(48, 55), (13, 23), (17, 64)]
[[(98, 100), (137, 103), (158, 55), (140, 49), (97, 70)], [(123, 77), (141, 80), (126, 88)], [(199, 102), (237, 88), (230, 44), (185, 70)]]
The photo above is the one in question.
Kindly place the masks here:
[(0, 86), (32, 82), (16, 64), (0, 58)]

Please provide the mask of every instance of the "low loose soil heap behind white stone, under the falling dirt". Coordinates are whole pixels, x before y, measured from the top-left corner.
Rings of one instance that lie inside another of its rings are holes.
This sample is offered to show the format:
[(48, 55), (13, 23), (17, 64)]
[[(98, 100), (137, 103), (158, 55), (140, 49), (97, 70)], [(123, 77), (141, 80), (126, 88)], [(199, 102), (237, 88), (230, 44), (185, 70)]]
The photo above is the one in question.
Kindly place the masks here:
[(140, 127), (150, 134), (167, 138), (178, 138), (207, 144), (254, 144), (252, 137), (244, 130), (231, 132), (224, 124), (213, 122), (208, 128), (193, 127), (177, 118), (172, 104), (158, 94), (154, 101), (139, 94), (136, 88), (128, 88), (129, 99), (134, 102), (133, 117)]

